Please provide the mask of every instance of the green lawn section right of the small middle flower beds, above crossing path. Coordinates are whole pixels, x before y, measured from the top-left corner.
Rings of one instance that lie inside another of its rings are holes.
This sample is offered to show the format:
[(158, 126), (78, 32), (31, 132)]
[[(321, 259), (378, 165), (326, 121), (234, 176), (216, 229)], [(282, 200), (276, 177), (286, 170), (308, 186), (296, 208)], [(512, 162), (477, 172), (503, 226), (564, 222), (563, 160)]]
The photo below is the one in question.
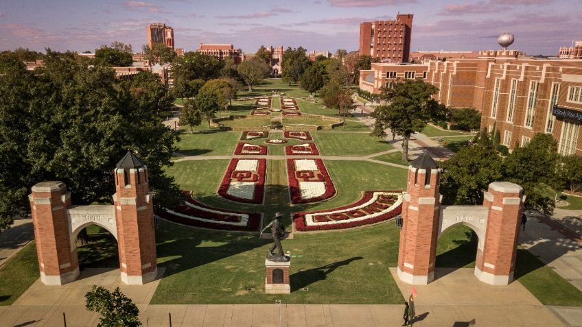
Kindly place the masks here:
[(363, 133), (312, 133), (322, 156), (365, 156), (393, 149), (386, 141)]

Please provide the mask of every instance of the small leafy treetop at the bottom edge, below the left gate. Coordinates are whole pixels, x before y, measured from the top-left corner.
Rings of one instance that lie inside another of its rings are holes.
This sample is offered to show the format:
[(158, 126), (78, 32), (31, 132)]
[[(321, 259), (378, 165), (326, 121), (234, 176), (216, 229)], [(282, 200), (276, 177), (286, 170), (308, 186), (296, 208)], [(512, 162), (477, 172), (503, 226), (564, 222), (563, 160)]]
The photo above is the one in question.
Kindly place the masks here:
[(137, 327), (141, 322), (137, 316), (139, 308), (119, 287), (110, 292), (104, 287), (93, 285), (91, 291), (85, 294), (85, 307), (102, 315), (98, 326), (100, 327)]

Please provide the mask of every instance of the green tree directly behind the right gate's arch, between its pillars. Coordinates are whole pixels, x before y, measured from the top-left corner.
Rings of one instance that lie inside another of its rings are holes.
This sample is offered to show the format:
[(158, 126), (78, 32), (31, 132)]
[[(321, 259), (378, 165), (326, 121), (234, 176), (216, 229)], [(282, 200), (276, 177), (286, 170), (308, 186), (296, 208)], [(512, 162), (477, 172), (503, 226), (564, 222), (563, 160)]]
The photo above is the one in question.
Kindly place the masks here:
[(478, 205), (489, 184), (503, 178), (504, 166), (487, 132), (483, 132), (475, 145), (459, 149), (441, 162), (441, 168), (443, 204)]

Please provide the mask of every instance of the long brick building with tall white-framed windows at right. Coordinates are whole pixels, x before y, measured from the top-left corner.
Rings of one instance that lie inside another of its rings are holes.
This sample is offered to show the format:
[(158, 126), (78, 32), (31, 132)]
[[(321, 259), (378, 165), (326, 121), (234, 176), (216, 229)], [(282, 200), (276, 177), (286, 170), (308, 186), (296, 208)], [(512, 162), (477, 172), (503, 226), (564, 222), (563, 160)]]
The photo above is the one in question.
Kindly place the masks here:
[(481, 128), (495, 126), (509, 149), (526, 145), (535, 133), (548, 133), (557, 140), (559, 153), (582, 155), (582, 60), (533, 59), (520, 51), (493, 50), (480, 51), (474, 59), (372, 64), (360, 71), (360, 88), (380, 93), (397, 77), (423, 77), (439, 88), (434, 98), (442, 104), (476, 108), (482, 113)]

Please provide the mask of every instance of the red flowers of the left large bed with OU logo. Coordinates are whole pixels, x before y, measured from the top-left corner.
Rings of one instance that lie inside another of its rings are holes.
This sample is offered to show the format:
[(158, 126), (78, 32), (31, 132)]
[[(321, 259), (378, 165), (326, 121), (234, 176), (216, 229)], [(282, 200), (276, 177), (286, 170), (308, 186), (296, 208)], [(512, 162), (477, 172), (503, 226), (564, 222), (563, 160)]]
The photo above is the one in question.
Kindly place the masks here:
[[(267, 166), (266, 159), (249, 159), (258, 160), (257, 171), (235, 171), (237, 163), (239, 160), (245, 159), (232, 159), (229, 167), (224, 173), (224, 178), (220, 183), (218, 188), (218, 195), (235, 202), (252, 203), (252, 204), (262, 204), (264, 189), (265, 189), (265, 172)], [(237, 197), (235, 195), (229, 194), (229, 187), (231, 182), (253, 182), (255, 183), (255, 189), (253, 191), (253, 198), (246, 199), (242, 197)]]

